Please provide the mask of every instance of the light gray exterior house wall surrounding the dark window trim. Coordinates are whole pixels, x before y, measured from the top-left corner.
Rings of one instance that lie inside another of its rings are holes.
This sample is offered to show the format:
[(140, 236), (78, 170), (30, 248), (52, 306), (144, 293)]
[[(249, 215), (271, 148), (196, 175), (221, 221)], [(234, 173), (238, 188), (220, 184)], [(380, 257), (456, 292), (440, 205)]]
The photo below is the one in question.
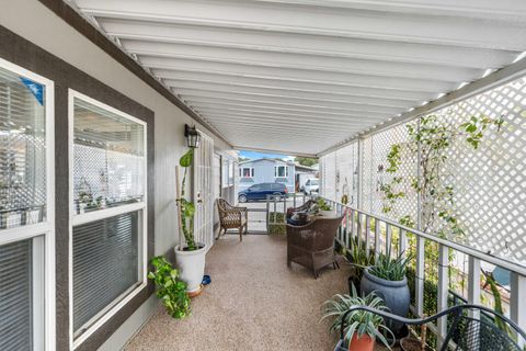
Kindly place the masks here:
[[(179, 236), (173, 201), (174, 167), (185, 150), (184, 124), (193, 121), (38, 1), (2, 1), (0, 24), (155, 112), (155, 253), (170, 251)], [(209, 135), (217, 148), (229, 148)], [(153, 298), (114, 333), (106, 349), (119, 348), (136, 331), (157, 306)]]

